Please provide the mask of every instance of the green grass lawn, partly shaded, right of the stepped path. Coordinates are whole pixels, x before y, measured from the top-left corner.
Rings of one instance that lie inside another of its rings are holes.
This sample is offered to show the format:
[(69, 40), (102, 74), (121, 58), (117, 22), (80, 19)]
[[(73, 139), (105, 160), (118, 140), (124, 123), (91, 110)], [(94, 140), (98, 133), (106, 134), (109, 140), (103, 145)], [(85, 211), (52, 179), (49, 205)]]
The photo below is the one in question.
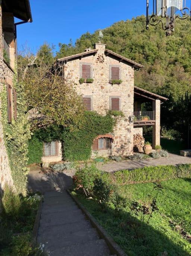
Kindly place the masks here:
[(102, 210), (94, 199), (78, 199), (130, 256), (163, 252), (168, 256), (191, 255), (191, 243), (175, 229), (178, 224), (191, 234), (191, 180), (175, 179), (161, 185), (163, 189), (157, 197), (159, 211), (154, 212), (148, 225), (140, 221), (130, 206), (132, 201), (147, 202), (148, 195), (156, 193), (153, 183), (121, 186), (120, 195), (128, 198), (129, 203), (120, 216), (111, 204)]

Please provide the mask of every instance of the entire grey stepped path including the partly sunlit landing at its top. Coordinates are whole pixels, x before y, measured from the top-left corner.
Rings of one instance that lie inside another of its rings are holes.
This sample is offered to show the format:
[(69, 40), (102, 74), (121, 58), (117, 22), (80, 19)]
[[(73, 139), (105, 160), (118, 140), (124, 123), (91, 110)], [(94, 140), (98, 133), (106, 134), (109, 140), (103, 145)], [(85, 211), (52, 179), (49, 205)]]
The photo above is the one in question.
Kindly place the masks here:
[(85, 218), (66, 189), (72, 184), (73, 171), (53, 172), (33, 166), (28, 189), (44, 192), (37, 242), (48, 255), (108, 256), (105, 240)]

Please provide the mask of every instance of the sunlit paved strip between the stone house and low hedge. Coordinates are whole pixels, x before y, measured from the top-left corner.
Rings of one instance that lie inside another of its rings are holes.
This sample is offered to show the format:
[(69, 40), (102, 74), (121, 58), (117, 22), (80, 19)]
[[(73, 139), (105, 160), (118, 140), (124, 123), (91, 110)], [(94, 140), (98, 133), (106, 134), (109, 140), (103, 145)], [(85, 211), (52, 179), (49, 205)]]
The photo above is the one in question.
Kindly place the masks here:
[(183, 157), (175, 154), (169, 154), (169, 157), (160, 157), (159, 159), (149, 158), (146, 160), (129, 160), (127, 162), (112, 162), (99, 165), (99, 169), (106, 172), (115, 172), (124, 169), (137, 169), (145, 166), (157, 166), (157, 165), (179, 165), (179, 164), (191, 164), (191, 157)]

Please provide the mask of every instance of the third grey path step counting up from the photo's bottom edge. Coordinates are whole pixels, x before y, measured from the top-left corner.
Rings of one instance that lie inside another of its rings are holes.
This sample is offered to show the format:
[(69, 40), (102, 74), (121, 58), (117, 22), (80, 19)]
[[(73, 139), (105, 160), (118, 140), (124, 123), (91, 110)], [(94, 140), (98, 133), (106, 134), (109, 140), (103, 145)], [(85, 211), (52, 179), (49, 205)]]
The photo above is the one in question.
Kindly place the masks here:
[(51, 234), (72, 234), (73, 232), (87, 230), (92, 228), (91, 223), (88, 220), (84, 220), (81, 222), (76, 222), (75, 220), (72, 223), (62, 224), (62, 225), (54, 225), (54, 226), (40, 226), (38, 228), (38, 235), (47, 234), (50, 236)]

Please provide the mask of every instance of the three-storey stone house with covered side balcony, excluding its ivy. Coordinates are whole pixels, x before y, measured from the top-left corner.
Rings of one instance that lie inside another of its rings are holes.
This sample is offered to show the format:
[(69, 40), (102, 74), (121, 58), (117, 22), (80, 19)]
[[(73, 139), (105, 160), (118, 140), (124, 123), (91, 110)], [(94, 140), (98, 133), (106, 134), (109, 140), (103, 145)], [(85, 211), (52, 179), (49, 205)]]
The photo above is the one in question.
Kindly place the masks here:
[[(134, 134), (143, 134), (143, 126), (153, 126), (153, 148), (160, 145), (160, 104), (165, 97), (134, 86), (134, 72), (143, 66), (106, 49), (103, 43), (95, 48), (57, 60), (63, 78), (70, 79), (83, 96), (88, 111), (105, 115), (110, 109), (122, 111), (113, 133), (94, 139), (92, 157), (129, 156), (133, 153)], [(141, 112), (141, 103), (152, 102), (152, 111)], [(44, 144), (43, 162), (62, 159), (59, 142)], [(48, 150), (48, 153), (47, 153)]]

